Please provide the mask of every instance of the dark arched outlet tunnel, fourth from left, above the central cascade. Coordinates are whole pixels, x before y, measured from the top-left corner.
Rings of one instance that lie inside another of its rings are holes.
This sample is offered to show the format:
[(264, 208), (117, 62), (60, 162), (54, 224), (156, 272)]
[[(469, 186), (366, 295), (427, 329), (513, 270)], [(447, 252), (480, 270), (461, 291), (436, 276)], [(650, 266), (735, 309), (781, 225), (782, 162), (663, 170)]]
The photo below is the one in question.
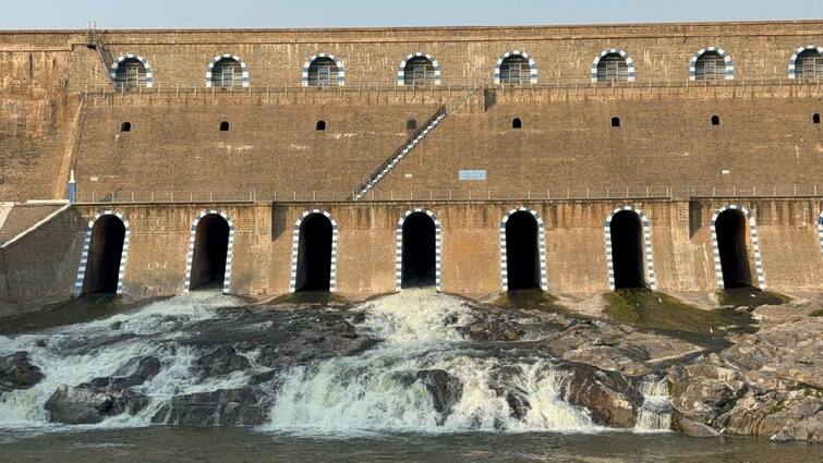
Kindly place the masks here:
[(437, 271), (437, 230), (434, 219), (414, 212), (403, 221), (402, 288), (433, 287)]

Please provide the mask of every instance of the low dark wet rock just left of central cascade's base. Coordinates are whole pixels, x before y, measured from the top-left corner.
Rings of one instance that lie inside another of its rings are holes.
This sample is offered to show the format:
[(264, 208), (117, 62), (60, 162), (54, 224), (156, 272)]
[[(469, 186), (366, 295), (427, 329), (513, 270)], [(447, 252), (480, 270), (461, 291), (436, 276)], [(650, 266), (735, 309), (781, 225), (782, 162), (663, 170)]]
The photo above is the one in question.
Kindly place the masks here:
[(257, 426), (268, 421), (271, 404), (259, 388), (223, 389), (178, 395), (152, 423), (178, 426)]

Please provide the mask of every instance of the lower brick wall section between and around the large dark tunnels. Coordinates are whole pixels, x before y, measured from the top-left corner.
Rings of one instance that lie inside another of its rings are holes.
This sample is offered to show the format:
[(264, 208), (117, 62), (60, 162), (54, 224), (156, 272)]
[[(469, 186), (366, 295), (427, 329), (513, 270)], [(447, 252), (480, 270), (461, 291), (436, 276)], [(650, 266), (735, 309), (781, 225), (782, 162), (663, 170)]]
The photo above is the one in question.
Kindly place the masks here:
[[(231, 291), (255, 296), (289, 291), (292, 230), (306, 210), (328, 211), (338, 226), (337, 289), (359, 300), (395, 291), (396, 229), (410, 209), (431, 210), (443, 226), (444, 291), (474, 297), (500, 292), (499, 226), (512, 208), (535, 210), (546, 223), (549, 292), (608, 291), (603, 223), (616, 208), (632, 206), (652, 224), (658, 287), (666, 292), (717, 289), (710, 222), (729, 204), (749, 208), (758, 222), (770, 289), (786, 293), (823, 289), (814, 217), (819, 199), (711, 199), (591, 202), (476, 202), (283, 205), (122, 205), (132, 226), (125, 293), (145, 297), (179, 294), (192, 220), (201, 210), (226, 211), (235, 226)], [(80, 206), (84, 217), (97, 211)], [(752, 243), (750, 266), (754, 268)]]

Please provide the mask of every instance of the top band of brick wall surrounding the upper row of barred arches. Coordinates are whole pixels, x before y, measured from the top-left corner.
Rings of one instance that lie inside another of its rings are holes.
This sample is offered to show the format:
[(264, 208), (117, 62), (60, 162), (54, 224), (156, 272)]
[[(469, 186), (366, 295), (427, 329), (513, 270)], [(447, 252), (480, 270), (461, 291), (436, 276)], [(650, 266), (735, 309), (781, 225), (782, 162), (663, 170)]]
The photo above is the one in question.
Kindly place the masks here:
[[(437, 58), (444, 83), (492, 82), (497, 59), (513, 49), (529, 52), (540, 78), (590, 76), (592, 61), (604, 49), (620, 48), (634, 60), (638, 80), (688, 77), (689, 61), (704, 47), (725, 49), (739, 78), (786, 75), (795, 49), (820, 45), (820, 21), (772, 23), (646, 24), (612, 26), (449, 27), (281, 31), (104, 31), (109, 52), (145, 57), (159, 85), (202, 84), (206, 65), (218, 53), (241, 56), (257, 83), (299, 83), (305, 60), (318, 52), (340, 57), (347, 82), (392, 82), (408, 54)], [(76, 88), (104, 82), (89, 74), (98, 61), (85, 49), (83, 32), (5, 33), (0, 50), (71, 50)], [(31, 52), (31, 51), (28, 51)]]

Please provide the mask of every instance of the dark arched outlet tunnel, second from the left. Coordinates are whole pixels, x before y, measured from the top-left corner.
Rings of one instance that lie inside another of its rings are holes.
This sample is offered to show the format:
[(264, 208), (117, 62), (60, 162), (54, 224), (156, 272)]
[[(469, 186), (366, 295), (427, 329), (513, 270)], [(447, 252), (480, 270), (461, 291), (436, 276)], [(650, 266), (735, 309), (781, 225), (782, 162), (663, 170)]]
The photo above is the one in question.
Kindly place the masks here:
[(209, 214), (197, 222), (190, 290), (222, 285), (229, 251), (229, 222)]

